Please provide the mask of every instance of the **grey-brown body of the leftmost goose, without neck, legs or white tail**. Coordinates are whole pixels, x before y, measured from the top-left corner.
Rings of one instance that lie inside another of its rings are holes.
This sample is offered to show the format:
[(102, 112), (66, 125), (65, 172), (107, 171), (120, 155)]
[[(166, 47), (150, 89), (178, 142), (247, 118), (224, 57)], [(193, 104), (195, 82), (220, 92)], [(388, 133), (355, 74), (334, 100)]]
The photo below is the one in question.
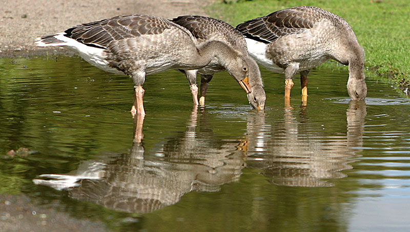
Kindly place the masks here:
[(127, 75), (187, 68), (198, 55), (196, 38), (187, 29), (151, 15), (116, 16), (65, 33), (82, 44), (104, 49), (110, 67)]

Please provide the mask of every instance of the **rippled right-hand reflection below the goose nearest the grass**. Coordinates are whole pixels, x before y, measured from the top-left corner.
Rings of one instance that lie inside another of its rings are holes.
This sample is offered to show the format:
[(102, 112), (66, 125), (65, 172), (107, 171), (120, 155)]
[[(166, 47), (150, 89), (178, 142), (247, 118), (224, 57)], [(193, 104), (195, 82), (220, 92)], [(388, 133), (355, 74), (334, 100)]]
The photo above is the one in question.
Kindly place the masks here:
[(327, 179), (343, 178), (340, 171), (351, 169), (352, 157), (360, 151), (366, 105), (351, 101), (346, 110), (345, 136), (322, 136), (312, 131), (305, 110), (294, 115), (285, 108), (283, 121), (274, 128), (264, 116), (250, 114), (247, 125), (247, 166), (262, 170), (277, 185), (332, 186)]

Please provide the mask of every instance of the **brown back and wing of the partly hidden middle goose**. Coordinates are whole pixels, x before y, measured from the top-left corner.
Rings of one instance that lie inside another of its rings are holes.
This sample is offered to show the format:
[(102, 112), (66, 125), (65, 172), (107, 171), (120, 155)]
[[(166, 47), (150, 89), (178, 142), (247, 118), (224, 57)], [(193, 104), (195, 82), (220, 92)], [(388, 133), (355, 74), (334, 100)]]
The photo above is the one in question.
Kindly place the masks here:
[(247, 51), (243, 35), (222, 20), (206, 16), (185, 15), (172, 19), (172, 22), (188, 29), (199, 43), (206, 40), (219, 40), (234, 49)]

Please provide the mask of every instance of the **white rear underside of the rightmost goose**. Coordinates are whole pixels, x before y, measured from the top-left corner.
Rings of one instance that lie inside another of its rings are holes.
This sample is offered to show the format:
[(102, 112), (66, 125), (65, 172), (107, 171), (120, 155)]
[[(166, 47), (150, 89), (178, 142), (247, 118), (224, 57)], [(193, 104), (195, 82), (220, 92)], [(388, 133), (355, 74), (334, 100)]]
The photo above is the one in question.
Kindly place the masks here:
[(258, 62), (259, 65), (263, 66), (265, 69), (275, 72), (275, 73), (283, 73), (283, 69), (279, 66), (275, 65), (271, 59), (268, 59), (266, 56), (266, 47), (268, 46), (265, 43), (255, 41), (250, 38), (245, 38), (247, 40), (248, 45), (248, 53), (249, 55)]

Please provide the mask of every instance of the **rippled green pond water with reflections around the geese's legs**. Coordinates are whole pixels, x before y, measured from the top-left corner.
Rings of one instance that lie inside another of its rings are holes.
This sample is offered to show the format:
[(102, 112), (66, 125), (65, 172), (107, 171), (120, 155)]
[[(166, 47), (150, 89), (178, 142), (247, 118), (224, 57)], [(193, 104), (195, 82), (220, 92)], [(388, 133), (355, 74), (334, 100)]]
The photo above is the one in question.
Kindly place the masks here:
[(258, 112), (220, 73), (193, 109), (185, 76), (168, 71), (147, 77), (142, 121), (132, 81), (78, 57), (2, 58), (0, 70), (0, 207), (18, 196), (107, 230), (410, 230), (410, 99), (381, 81), (350, 102), (347, 71), (313, 70), (308, 106), (295, 78), (285, 108), (283, 75), (262, 69)]

